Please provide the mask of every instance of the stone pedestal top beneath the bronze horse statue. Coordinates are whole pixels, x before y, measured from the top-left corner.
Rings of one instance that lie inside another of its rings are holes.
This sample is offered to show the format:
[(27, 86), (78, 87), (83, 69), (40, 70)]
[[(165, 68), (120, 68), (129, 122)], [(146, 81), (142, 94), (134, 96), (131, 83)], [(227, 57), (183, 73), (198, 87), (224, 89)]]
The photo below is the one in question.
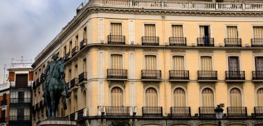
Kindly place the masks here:
[(39, 123), (39, 126), (75, 126), (75, 121), (70, 121), (69, 118), (51, 117)]

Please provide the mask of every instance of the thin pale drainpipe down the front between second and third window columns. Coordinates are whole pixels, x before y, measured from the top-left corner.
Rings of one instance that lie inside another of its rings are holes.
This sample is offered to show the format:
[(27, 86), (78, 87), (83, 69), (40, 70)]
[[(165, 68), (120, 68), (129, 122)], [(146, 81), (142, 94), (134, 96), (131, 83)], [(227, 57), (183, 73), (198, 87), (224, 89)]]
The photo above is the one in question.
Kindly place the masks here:
[[(165, 16), (162, 15), (162, 19), (163, 19), (163, 43), (165, 44)], [(163, 48), (163, 75), (164, 75), (164, 86), (165, 86), (165, 116), (167, 115), (167, 111), (166, 111), (166, 107), (167, 107), (167, 98), (166, 98), (166, 70), (165, 70), (165, 47)]]

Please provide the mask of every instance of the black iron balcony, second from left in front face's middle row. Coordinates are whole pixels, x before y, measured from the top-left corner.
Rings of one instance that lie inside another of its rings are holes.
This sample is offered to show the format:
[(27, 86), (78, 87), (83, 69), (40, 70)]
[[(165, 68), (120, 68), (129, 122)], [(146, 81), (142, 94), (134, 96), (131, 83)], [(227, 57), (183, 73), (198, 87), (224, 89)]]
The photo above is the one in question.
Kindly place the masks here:
[[(161, 70), (141, 70), (142, 79), (159, 79), (161, 80)], [(153, 81), (153, 80), (151, 80)]]

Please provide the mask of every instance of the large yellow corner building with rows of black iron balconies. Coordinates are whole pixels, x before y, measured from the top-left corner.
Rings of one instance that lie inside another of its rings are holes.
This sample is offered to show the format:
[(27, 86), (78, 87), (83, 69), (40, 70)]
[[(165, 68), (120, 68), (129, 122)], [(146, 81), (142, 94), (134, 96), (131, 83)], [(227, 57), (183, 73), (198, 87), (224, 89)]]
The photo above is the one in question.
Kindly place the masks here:
[(65, 59), (78, 125), (263, 125), (263, 4), (90, 0), (33, 64), (33, 125), (46, 119), (41, 75)]

